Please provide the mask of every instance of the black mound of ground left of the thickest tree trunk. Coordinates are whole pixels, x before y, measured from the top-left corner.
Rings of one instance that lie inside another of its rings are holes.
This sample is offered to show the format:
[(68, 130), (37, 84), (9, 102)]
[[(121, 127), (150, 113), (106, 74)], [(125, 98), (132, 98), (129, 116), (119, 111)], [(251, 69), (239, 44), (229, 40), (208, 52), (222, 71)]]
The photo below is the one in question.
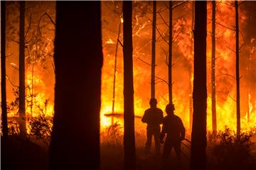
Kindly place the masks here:
[(46, 170), (48, 149), (17, 135), (1, 137), (1, 169)]

